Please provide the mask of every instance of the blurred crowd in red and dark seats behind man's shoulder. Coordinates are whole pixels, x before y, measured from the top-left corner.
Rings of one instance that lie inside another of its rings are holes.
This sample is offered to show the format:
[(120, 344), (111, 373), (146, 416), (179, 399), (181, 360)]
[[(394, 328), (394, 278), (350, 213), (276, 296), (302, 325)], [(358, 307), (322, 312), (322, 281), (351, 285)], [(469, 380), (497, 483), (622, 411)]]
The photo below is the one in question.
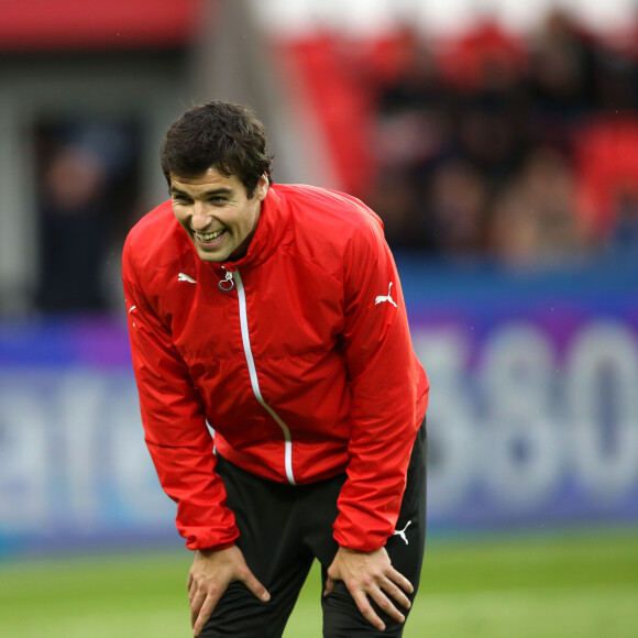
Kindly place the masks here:
[(553, 10), (526, 41), (494, 22), (449, 46), (406, 29), (392, 54), (364, 75), (364, 197), (393, 248), (510, 264), (638, 250), (636, 31), (605, 41)]

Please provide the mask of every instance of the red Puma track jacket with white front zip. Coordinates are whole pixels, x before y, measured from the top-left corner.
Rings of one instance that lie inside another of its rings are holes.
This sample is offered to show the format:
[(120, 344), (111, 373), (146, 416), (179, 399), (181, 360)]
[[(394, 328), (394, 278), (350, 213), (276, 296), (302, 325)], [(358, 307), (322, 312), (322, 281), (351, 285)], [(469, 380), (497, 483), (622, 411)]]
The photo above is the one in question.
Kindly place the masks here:
[(217, 264), (198, 257), (166, 201), (130, 232), (123, 282), (145, 440), (187, 547), (239, 536), (213, 441), (271, 481), (346, 471), (336, 540), (385, 544), (428, 381), (374, 212), (274, 185), (248, 254)]

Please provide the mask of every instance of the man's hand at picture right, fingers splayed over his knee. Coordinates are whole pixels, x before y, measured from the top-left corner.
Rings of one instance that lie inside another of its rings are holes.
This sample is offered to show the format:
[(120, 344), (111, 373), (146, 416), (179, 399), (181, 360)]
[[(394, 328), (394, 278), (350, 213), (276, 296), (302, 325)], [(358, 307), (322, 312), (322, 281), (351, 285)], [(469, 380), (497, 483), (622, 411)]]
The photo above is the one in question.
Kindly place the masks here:
[(405, 620), (395, 602), (409, 609), (410, 601), (405, 592), (411, 594), (414, 587), (392, 566), (384, 547), (370, 552), (340, 547), (328, 569), (324, 596), (334, 588), (337, 581), (343, 581), (363, 617), (380, 631), (385, 629), (385, 625), (374, 612), (367, 596), (397, 623)]

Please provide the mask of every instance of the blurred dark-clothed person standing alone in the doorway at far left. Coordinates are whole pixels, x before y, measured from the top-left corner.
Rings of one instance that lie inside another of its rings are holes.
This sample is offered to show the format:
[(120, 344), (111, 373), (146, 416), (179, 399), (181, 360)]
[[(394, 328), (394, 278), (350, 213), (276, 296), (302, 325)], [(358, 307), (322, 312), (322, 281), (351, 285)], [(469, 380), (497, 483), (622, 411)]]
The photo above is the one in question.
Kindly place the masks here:
[(38, 310), (109, 309), (107, 263), (138, 200), (135, 131), (80, 118), (38, 129)]

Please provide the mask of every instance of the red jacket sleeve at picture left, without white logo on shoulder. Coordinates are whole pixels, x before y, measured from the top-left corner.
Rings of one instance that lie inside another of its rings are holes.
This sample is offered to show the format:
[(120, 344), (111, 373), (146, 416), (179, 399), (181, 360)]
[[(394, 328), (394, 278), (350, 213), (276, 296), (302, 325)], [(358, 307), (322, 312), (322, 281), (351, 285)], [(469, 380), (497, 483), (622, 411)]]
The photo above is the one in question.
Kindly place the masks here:
[(189, 549), (224, 549), (239, 536), (217, 474), (199, 395), (170, 332), (147, 301), (127, 242), (122, 277), (133, 370), (145, 441), (160, 483), (177, 503), (176, 525)]

